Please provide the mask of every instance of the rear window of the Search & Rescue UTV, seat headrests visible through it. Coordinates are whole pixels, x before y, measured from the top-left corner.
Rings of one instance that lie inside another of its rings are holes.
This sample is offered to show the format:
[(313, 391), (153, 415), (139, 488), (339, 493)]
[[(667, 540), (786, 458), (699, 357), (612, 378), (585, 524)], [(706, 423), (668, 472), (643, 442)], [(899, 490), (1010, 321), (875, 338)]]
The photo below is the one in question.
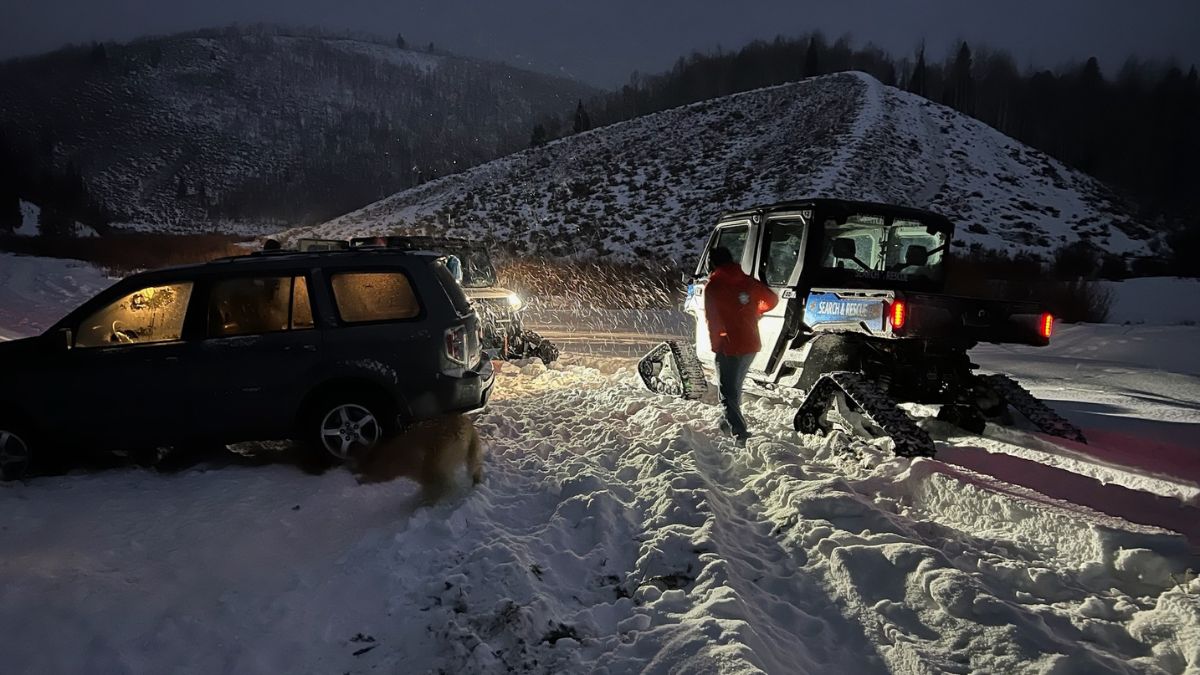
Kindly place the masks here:
[(824, 222), (821, 267), (839, 276), (941, 282), (947, 234), (916, 220), (853, 215)]

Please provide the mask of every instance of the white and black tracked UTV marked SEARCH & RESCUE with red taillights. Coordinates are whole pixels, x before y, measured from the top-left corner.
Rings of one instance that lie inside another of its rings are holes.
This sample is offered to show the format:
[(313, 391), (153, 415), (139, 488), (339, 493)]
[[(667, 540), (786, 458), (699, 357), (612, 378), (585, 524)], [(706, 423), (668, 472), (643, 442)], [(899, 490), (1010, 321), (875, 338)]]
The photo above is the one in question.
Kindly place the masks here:
[(835, 428), (887, 436), (896, 454), (931, 456), (934, 442), (898, 402), (940, 404), (971, 432), (1024, 414), (1046, 434), (1084, 435), (1004, 375), (978, 375), (979, 342), (1044, 346), (1054, 316), (1033, 303), (943, 293), (953, 223), (935, 213), (844, 199), (804, 199), (720, 217), (689, 279), (692, 344), (664, 342), (638, 363), (652, 392), (700, 399), (714, 366), (704, 321), (708, 255), (721, 246), (779, 294), (760, 322), (763, 350), (749, 382), (797, 389), (797, 431)]

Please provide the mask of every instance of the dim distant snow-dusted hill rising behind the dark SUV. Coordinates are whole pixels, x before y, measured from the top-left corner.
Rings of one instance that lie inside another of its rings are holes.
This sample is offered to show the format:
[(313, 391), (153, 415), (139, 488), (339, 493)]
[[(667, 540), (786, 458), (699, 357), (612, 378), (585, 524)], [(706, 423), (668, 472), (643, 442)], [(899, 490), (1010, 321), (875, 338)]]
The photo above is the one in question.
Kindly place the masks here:
[(535, 120), (592, 92), (444, 54), (223, 29), (5, 62), (0, 129), (77, 165), (119, 221), (313, 222), (523, 148)]

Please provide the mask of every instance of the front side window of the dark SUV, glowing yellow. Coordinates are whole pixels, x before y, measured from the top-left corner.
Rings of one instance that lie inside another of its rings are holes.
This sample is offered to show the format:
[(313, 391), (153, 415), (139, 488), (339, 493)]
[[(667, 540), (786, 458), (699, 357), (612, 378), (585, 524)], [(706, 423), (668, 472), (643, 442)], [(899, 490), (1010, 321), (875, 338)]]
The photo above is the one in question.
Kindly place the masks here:
[(179, 340), (184, 334), (192, 282), (148, 286), (79, 323), (76, 347), (110, 347)]

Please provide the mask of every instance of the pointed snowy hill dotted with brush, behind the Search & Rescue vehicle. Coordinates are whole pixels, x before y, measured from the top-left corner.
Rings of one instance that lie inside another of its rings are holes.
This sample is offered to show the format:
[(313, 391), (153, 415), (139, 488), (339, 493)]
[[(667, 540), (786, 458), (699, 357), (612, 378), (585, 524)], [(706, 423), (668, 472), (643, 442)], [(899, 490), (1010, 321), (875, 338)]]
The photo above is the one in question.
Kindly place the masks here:
[(1154, 232), (1099, 181), (996, 130), (841, 73), (568, 137), (292, 235), (430, 229), (517, 252), (695, 258), (724, 210), (834, 196), (925, 207), (961, 245), (1145, 252)]

